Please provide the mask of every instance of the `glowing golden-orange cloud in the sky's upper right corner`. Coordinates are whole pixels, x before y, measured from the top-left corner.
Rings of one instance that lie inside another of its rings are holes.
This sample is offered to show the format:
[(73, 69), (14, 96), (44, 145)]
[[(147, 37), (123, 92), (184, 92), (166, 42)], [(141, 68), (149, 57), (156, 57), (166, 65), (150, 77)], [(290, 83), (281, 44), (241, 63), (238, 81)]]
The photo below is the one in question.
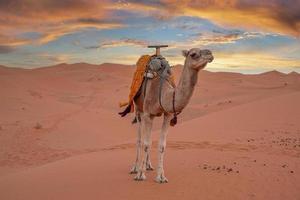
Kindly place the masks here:
[(222, 25), (300, 36), (299, 1), (232, 0), (226, 1), (227, 4), (219, 1), (208, 2), (207, 6), (201, 3), (189, 3), (183, 8), (183, 12)]

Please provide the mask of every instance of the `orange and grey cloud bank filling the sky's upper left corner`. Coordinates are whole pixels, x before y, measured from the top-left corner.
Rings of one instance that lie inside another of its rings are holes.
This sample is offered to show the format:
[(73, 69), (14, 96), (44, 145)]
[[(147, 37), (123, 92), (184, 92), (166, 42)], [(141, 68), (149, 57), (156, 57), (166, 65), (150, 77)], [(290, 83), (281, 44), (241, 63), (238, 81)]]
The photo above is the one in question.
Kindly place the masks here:
[[(87, 28), (123, 27), (104, 9), (108, 3), (107, 0), (0, 0), (0, 32), (14, 38), (32, 31), (40, 34), (40, 38), (20, 44), (24, 45), (44, 44)], [(1, 38), (0, 45), (4, 45)]]

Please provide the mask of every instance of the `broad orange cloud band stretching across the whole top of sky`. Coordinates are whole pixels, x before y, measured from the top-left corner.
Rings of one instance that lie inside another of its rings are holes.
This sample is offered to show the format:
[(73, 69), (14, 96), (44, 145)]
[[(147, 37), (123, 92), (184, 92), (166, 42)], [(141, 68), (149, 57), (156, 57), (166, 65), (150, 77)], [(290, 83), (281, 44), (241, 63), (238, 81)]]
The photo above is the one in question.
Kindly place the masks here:
[[(118, 10), (150, 15), (205, 18), (222, 26), (236, 26), (299, 36), (300, 1), (282, 0), (0, 0), (0, 31), (15, 40), (0, 45), (44, 44), (83, 29), (124, 27)], [(35, 31), (40, 38), (22, 40)], [(209, 40), (209, 39), (207, 39)]]

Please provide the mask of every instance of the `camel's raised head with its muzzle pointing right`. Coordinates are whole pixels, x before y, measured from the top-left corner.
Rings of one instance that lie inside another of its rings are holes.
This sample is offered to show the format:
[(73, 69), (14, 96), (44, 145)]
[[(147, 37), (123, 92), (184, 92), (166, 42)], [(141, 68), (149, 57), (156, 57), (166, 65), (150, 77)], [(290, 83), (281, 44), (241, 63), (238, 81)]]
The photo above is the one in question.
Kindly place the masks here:
[(208, 49), (192, 48), (189, 51), (182, 51), (182, 54), (185, 57), (185, 65), (197, 71), (203, 69), (207, 63), (212, 62), (214, 59), (211, 51)]

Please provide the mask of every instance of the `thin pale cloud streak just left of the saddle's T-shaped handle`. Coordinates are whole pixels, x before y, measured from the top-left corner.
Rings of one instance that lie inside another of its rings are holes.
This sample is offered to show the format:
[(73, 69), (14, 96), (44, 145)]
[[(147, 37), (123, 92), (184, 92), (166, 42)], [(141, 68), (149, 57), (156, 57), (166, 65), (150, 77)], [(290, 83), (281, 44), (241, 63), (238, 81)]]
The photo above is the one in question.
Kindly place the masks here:
[(106, 48), (124, 47), (124, 46), (145, 47), (147, 45), (148, 45), (147, 41), (127, 38), (127, 39), (103, 42), (96, 46), (86, 47), (86, 49), (106, 49)]

